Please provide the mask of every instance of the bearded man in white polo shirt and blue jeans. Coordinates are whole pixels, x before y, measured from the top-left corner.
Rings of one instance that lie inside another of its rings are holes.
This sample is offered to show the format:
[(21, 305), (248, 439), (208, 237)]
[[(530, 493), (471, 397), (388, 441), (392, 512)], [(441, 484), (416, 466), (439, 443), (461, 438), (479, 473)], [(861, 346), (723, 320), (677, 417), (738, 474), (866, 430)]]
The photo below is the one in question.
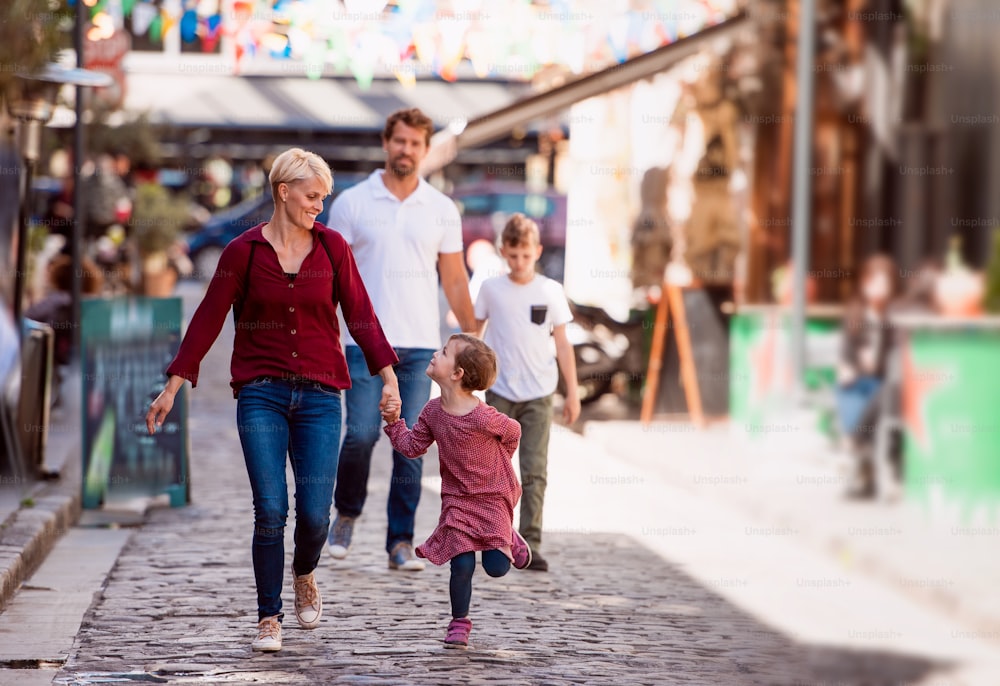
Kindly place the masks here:
[[(385, 169), (340, 194), (326, 222), (350, 244), (375, 314), (399, 356), (395, 369), (402, 416), (409, 426), (416, 423), (430, 397), (431, 381), (424, 372), (441, 347), (438, 272), (462, 330), (476, 329), (458, 208), (418, 173), (433, 131), (430, 118), (416, 108), (389, 115), (382, 132)], [(351, 547), (382, 422), (378, 407), (382, 381), (369, 374), (349, 331), (344, 343), (351, 388), (345, 392), (344, 445), (334, 493), (337, 517), (328, 539), (335, 558), (346, 557)], [(420, 502), (423, 459), (410, 460), (393, 451), (392, 462), (386, 535), (389, 567), (419, 571), (424, 563), (413, 553), (413, 520)]]

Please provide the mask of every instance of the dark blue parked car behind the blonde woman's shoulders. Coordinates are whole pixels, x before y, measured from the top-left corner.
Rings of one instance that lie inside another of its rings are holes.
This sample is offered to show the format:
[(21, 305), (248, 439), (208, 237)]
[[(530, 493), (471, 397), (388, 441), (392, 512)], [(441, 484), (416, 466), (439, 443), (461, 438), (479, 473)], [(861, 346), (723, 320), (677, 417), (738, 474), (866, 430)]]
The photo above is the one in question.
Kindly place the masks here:
[[(330, 203), (335, 197), (364, 178), (360, 175), (337, 174), (334, 178), (333, 193), (323, 201), (323, 212), (320, 213), (319, 221), (326, 219)], [(262, 194), (213, 214), (201, 228), (187, 238), (188, 255), (194, 263), (192, 275), (203, 281), (210, 279), (215, 273), (216, 265), (219, 264), (222, 249), (247, 229), (252, 229), (270, 219), (273, 211), (271, 187), (266, 186)]]

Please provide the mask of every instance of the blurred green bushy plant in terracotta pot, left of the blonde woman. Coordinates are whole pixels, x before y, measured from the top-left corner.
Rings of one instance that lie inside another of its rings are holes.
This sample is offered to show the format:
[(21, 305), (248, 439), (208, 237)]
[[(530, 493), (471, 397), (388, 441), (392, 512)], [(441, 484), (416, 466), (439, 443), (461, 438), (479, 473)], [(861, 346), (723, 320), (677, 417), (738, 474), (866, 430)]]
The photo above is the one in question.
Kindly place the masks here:
[(174, 198), (159, 183), (136, 187), (129, 226), (139, 252), (143, 295), (171, 295), (178, 277), (190, 271), (181, 241), (187, 221), (184, 199)]

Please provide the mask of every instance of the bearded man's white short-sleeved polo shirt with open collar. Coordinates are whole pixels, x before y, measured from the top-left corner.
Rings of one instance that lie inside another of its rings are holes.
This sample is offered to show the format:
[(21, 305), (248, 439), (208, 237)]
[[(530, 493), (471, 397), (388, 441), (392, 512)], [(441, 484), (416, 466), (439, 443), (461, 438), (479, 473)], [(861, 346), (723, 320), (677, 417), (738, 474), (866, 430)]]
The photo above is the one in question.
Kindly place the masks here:
[[(438, 254), (462, 252), (462, 218), (454, 201), (424, 179), (400, 201), (385, 187), (384, 172), (341, 193), (326, 225), (351, 246), (389, 343), (437, 349)], [(343, 325), (341, 336), (345, 345), (357, 345)]]

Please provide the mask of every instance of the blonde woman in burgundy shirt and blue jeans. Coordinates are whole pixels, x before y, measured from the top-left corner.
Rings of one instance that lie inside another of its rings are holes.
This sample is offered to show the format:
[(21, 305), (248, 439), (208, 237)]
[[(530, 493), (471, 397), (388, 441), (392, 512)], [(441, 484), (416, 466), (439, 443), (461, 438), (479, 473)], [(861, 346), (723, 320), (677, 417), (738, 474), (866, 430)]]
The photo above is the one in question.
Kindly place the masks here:
[[(337, 306), (363, 351), (369, 374), (381, 377), (381, 404), (399, 388), (397, 357), (372, 309), (350, 248), (316, 221), (333, 177), (319, 156), (286, 150), (270, 172), (274, 213), (233, 239), (191, 319), (163, 392), (146, 415), (149, 433), (162, 426), (184, 380), (198, 382), (201, 360), (232, 308), (233, 395), (237, 429), (253, 490), (253, 567), (257, 582), (254, 650), (281, 649), (281, 589), (288, 513), (286, 456), (295, 475), (295, 615), (318, 626), (323, 602), (313, 570), (330, 523), (340, 443), (340, 391), (351, 385), (340, 346)], [(357, 371), (360, 375), (360, 371)], [(371, 399), (375, 412), (379, 396)]]

